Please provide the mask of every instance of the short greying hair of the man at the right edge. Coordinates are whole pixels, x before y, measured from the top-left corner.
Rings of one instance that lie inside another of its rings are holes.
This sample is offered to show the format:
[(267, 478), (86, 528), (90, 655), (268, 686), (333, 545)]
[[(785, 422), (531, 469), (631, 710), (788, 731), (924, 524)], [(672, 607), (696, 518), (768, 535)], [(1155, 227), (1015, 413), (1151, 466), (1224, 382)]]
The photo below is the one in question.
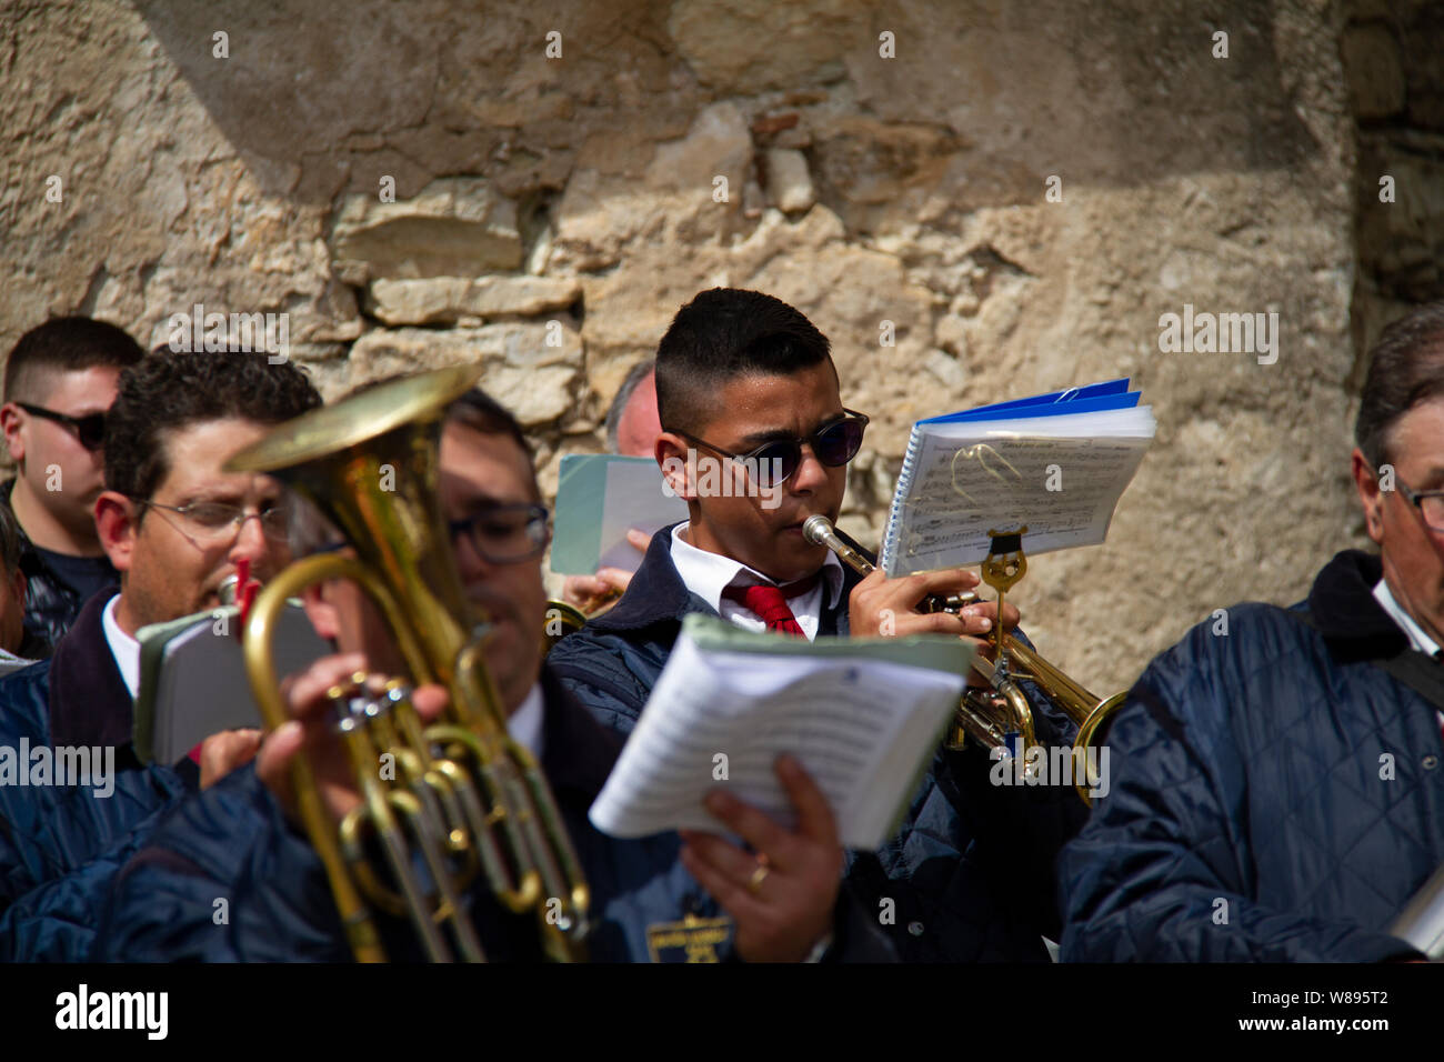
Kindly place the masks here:
[(1385, 328), (1369, 358), (1354, 442), (1375, 470), (1391, 461), (1389, 435), (1399, 418), (1438, 397), (1444, 397), (1444, 302), (1430, 302)]

